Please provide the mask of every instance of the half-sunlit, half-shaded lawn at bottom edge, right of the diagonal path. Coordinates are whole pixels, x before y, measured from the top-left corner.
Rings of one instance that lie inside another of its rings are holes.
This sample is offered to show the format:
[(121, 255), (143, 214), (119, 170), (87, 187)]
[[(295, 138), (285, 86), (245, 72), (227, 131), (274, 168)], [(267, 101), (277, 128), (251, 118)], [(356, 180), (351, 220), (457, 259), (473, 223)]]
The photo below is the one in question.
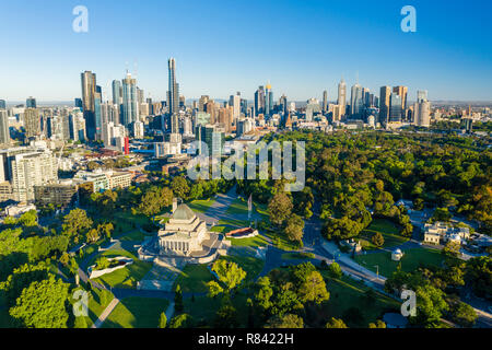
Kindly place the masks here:
[(103, 328), (157, 328), (167, 310), (165, 299), (131, 296), (121, 300), (103, 324)]

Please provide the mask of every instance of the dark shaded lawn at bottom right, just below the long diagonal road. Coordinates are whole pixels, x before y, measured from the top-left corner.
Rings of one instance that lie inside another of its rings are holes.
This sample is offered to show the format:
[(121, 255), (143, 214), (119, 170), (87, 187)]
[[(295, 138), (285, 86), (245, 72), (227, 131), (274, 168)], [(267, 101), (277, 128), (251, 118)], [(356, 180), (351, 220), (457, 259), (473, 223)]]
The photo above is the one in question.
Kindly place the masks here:
[[(365, 292), (370, 288), (364, 283), (347, 276), (341, 279), (332, 279), (328, 276), (328, 271), (321, 270), (320, 272), (325, 278), (330, 299), (323, 304), (320, 310), (308, 311), (309, 324), (313, 327), (323, 327), (328, 319), (335, 317), (342, 318), (349, 327), (366, 328), (370, 323), (382, 319), (386, 312), (399, 312), (400, 304), (395, 299), (375, 291), (375, 299), (370, 301), (365, 298)], [(349, 308), (359, 310), (362, 318), (347, 319), (345, 312)]]

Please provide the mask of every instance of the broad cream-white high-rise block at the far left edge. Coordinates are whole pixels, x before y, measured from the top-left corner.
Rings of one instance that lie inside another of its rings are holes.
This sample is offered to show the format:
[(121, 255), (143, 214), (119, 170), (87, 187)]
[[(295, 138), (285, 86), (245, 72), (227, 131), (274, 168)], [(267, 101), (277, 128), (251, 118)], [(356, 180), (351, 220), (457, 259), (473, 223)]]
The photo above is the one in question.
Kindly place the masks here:
[(0, 151), (0, 159), (3, 160), (0, 177), (11, 184), (15, 201), (34, 200), (34, 186), (58, 178), (57, 159), (47, 149), (5, 149)]

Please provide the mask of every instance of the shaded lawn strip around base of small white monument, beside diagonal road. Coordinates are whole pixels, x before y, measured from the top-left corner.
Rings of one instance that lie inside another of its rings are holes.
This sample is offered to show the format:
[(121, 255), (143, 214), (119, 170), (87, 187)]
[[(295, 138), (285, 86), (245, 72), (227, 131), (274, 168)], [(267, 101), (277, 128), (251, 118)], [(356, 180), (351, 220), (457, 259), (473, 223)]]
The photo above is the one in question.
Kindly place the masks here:
[(379, 275), (390, 277), (396, 271), (398, 265), (401, 262), (401, 270), (411, 272), (422, 266), (436, 266), (441, 267), (445, 259), (437, 249), (426, 248), (412, 248), (403, 252), (401, 261), (393, 261), (391, 254), (389, 252), (374, 253), (367, 255), (355, 256), (355, 261), (366, 267), (367, 269), (375, 271), (379, 267)]

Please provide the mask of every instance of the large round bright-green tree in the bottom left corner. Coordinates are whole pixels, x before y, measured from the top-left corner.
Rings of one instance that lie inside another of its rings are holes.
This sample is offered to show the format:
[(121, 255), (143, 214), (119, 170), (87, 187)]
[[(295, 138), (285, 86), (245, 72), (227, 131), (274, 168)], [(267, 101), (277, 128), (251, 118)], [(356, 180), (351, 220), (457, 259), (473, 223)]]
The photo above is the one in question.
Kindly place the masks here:
[(54, 276), (25, 288), (10, 315), (25, 327), (67, 328), (69, 284)]

